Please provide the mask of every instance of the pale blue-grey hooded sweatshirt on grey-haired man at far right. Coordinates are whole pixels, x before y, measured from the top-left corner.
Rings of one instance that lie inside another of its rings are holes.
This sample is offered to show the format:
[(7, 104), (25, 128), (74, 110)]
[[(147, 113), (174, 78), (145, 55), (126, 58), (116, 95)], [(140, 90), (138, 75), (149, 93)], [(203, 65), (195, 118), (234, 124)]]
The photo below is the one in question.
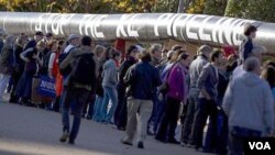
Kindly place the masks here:
[(244, 73), (233, 79), (223, 99), (223, 110), (229, 126), (262, 132), (274, 131), (274, 102), (268, 84), (253, 73)]

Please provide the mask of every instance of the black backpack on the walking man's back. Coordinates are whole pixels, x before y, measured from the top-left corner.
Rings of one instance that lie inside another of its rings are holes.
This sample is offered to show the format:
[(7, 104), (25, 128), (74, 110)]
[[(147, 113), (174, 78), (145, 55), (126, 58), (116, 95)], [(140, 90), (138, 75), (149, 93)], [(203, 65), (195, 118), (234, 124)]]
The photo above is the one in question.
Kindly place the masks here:
[(73, 67), (70, 78), (72, 81), (90, 86), (95, 89), (96, 86), (96, 63), (94, 60), (94, 54), (81, 54), (76, 58)]

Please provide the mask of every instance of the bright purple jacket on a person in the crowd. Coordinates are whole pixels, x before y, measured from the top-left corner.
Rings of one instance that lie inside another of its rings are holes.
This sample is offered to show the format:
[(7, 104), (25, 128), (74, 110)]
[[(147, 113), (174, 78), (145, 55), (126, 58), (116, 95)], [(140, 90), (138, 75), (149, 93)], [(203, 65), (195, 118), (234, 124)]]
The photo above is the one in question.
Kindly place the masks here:
[(188, 95), (187, 77), (188, 70), (180, 63), (177, 63), (170, 70), (168, 76), (169, 90), (168, 97), (185, 101)]

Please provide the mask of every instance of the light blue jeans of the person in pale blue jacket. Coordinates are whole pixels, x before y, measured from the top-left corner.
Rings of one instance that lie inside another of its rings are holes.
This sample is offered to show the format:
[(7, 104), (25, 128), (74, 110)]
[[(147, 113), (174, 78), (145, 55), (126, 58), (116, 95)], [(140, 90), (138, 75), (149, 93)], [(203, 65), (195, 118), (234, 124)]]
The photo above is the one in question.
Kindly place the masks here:
[[(103, 87), (103, 90), (105, 90), (105, 98), (101, 108), (101, 115), (102, 115), (101, 121), (112, 123), (111, 120), (113, 118), (114, 111), (118, 106), (118, 90), (116, 88), (110, 88), (110, 87)], [(111, 100), (112, 104), (108, 111), (109, 100)]]

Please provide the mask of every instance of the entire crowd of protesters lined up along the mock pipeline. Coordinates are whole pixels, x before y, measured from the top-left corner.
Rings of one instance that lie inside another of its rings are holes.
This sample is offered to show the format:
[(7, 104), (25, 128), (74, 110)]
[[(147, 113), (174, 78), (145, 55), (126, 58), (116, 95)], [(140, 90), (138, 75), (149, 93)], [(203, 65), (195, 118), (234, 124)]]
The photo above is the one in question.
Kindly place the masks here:
[(139, 148), (152, 135), (162, 143), (239, 155), (245, 137), (274, 136), (275, 63), (263, 62), (263, 55), (274, 54), (254, 37), (256, 27), (245, 26), (239, 51), (226, 57), (209, 45), (197, 55), (161, 44), (131, 45), (121, 53), (89, 36), (10, 35), (0, 42), (0, 99), (10, 88), (11, 103), (33, 107), (33, 79), (47, 76), (56, 95), (41, 97), (38, 106), (62, 112), (61, 142), (74, 144), (86, 118), (125, 131), (125, 145), (133, 145), (136, 134)]

